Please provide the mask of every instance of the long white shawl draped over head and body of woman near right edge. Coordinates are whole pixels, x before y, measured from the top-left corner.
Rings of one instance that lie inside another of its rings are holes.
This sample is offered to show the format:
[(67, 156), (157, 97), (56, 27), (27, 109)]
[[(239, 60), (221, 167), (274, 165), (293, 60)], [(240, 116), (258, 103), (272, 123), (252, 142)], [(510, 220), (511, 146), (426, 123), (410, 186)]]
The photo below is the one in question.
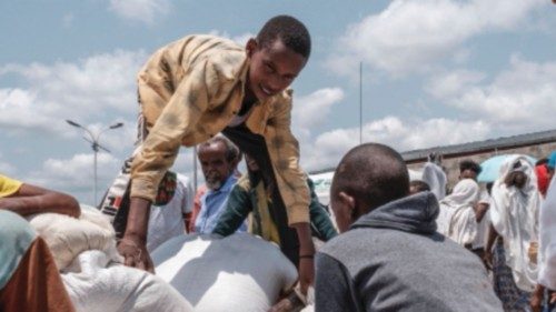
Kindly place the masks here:
[[(527, 182), (522, 189), (508, 188), (504, 180), (518, 161)], [(532, 242), (538, 242), (539, 207), (540, 193), (533, 164), (525, 157), (509, 158), (493, 185), (489, 214), (496, 232), (504, 239), (506, 264), (516, 285), (527, 292), (534, 290), (537, 281), (538, 268), (530, 261), (528, 251)]]

